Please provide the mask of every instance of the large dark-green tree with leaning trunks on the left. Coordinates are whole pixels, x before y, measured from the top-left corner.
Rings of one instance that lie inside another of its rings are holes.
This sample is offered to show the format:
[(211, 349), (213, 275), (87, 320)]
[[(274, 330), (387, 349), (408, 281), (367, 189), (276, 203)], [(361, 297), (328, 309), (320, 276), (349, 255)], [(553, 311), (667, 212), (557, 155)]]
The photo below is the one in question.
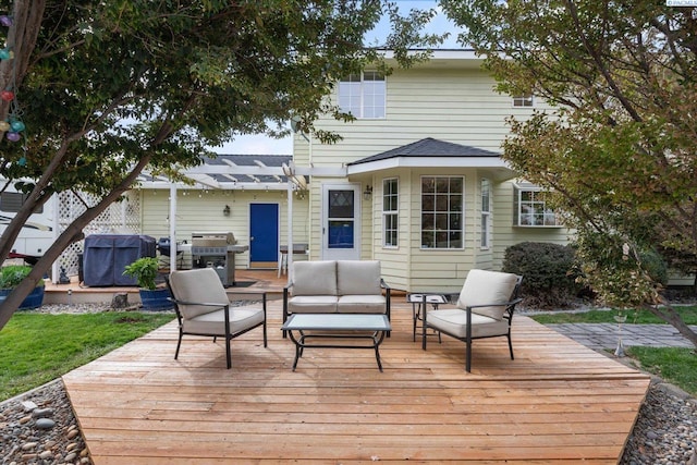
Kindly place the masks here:
[(379, 45), (401, 50), (403, 64), (421, 58), (407, 56), (408, 46), (436, 44), (419, 36), (433, 12), (402, 17), (380, 0), (14, 0), (3, 13), (0, 121), (14, 124), (0, 127), (0, 178), (28, 196), (0, 257), (52, 194), (100, 200), (2, 303), (0, 329), (145, 167), (174, 175), (235, 135), (284, 135), (291, 117), (305, 131), (320, 112), (348, 118), (325, 97), (339, 77), (379, 62), (364, 36), (382, 15), (393, 29)]

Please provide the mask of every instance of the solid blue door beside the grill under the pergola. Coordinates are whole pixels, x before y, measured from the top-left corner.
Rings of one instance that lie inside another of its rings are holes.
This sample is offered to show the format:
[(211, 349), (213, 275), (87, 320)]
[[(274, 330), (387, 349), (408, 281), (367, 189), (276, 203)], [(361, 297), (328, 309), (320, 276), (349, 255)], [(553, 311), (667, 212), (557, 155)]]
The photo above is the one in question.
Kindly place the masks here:
[(276, 267), (279, 259), (279, 205), (249, 204), (249, 267)]

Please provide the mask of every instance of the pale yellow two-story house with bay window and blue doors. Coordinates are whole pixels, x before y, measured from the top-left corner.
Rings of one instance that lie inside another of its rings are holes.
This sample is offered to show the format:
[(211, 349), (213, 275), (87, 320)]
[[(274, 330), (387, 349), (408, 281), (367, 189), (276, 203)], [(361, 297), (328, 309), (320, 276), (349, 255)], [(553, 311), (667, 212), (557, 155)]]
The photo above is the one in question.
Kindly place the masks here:
[(169, 196), (145, 183), (143, 232), (168, 235), (162, 219), (174, 211), (179, 241), (212, 230), (249, 244), (237, 267), (276, 267), (280, 245), (306, 243), (314, 260), (378, 259), (388, 283), (406, 291), (458, 290), (469, 269), (500, 269), (512, 244), (566, 242), (545, 194), (500, 157), (505, 119), (525, 119), (538, 102), (498, 94), (474, 52), (346, 76), (332, 98), (356, 120), (316, 126), (341, 142), (296, 134), (292, 160), (220, 157), (193, 173), (195, 188)]

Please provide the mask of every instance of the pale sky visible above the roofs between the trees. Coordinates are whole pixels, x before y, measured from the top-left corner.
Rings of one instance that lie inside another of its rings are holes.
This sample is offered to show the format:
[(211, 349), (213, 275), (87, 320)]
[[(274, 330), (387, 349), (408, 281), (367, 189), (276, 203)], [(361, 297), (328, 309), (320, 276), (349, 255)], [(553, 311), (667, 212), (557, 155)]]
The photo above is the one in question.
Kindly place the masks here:
[[(442, 34), (450, 32), (451, 37), (441, 47), (444, 49), (460, 48), (460, 45), (456, 44), (457, 29), (448, 21), (445, 15), (440, 12), (436, 0), (398, 0), (398, 4), (400, 10), (403, 11), (403, 14), (406, 14), (409, 9), (437, 9), (438, 15), (431, 20), (429, 26), (426, 28), (426, 33)], [(388, 28), (389, 22), (381, 21), (375, 29), (376, 37), (386, 34)], [(368, 40), (370, 41), (370, 38)], [(210, 149), (222, 155), (292, 155), (293, 138), (289, 136), (282, 139), (274, 139), (264, 134), (243, 135), (237, 136), (234, 140), (221, 147), (210, 147)]]

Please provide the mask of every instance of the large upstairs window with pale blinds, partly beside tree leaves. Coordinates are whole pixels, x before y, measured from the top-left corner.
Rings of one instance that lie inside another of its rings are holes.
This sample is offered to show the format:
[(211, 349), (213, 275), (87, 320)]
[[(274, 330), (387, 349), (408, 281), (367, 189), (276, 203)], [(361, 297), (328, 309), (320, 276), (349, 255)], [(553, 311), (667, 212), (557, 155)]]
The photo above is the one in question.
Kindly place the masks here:
[(387, 88), (377, 71), (351, 74), (339, 82), (339, 108), (358, 119), (384, 118)]

